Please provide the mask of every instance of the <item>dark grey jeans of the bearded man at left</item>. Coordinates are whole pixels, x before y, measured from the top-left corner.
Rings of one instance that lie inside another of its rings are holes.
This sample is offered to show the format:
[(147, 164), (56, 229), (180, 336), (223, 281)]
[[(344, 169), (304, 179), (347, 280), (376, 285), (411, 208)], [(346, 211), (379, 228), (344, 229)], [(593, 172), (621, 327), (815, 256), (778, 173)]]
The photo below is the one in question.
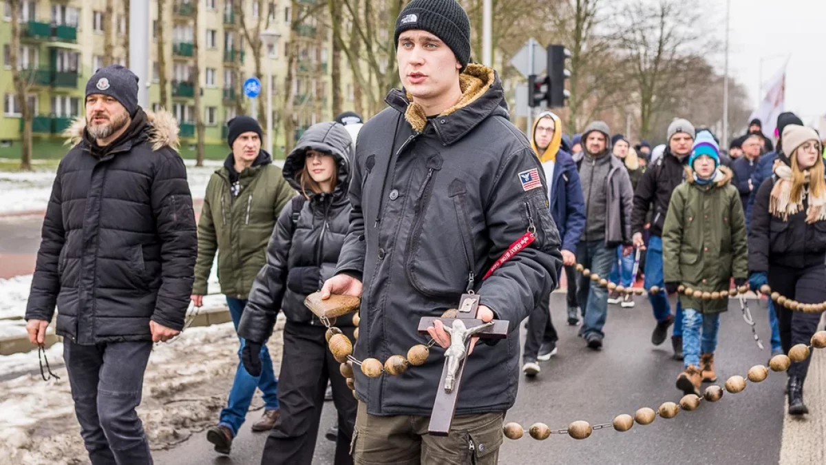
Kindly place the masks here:
[(150, 444), (135, 413), (151, 342), (84, 346), (64, 339), (74, 412), (93, 465), (148, 465)]

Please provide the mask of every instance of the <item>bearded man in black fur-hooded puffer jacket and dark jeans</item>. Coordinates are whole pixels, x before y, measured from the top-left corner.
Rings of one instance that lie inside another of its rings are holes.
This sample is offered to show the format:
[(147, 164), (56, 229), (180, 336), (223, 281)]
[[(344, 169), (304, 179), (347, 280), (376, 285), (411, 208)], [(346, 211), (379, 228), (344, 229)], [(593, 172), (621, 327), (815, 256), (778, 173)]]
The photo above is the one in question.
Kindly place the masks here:
[(86, 84), (86, 117), (60, 161), (26, 307), (32, 343), (55, 314), (93, 465), (152, 463), (135, 413), (153, 342), (184, 325), (197, 255), (187, 170), (169, 113), (138, 106), (112, 65)]

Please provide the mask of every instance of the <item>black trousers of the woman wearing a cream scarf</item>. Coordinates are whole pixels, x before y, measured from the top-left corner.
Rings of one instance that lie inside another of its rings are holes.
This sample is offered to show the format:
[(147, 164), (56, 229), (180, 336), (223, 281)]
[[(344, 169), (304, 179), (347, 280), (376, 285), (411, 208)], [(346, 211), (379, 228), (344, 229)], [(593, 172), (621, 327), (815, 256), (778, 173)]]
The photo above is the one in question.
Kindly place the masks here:
[[(823, 265), (808, 268), (771, 265), (768, 280), (771, 290), (802, 304), (819, 304), (826, 301), (826, 268)], [(821, 314), (796, 312), (782, 305), (775, 305), (775, 309), (780, 324), (783, 352), (789, 353), (789, 349), (797, 344), (809, 345), (812, 335), (818, 329)], [(789, 367), (789, 376), (805, 379), (811, 358), (808, 357), (800, 363), (792, 363)]]

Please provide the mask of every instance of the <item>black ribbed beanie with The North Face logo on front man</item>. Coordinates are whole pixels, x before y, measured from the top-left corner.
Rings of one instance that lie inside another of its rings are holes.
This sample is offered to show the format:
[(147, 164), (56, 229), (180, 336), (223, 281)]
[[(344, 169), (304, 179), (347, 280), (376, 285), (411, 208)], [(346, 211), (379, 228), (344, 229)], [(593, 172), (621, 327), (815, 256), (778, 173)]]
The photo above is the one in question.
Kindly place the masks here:
[(396, 18), (393, 46), (403, 31), (428, 31), (453, 50), (462, 70), (470, 61), (470, 19), (456, 0), (413, 0)]

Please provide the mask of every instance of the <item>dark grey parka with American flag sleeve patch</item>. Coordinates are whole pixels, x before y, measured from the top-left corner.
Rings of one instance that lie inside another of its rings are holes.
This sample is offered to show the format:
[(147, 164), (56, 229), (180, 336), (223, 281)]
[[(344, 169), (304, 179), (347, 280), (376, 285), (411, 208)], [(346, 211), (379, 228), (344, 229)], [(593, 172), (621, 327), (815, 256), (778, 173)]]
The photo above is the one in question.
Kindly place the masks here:
[[(519, 324), (555, 285), (560, 244), (542, 167), (508, 121), (501, 81), (468, 65), (460, 84), (459, 103), (432, 118), (394, 89), (390, 108), (362, 128), (337, 273), (363, 277), (358, 359), (385, 361), (427, 343), (420, 318), (455, 308), (468, 289), (510, 322), (506, 340), (477, 344), (468, 357), (456, 410), (466, 415), (514, 405)], [(482, 280), (531, 224), (536, 241)], [(437, 346), (401, 376), (357, 371), (358, 398), (372, 415), (430, 415), (443, 365)]]

